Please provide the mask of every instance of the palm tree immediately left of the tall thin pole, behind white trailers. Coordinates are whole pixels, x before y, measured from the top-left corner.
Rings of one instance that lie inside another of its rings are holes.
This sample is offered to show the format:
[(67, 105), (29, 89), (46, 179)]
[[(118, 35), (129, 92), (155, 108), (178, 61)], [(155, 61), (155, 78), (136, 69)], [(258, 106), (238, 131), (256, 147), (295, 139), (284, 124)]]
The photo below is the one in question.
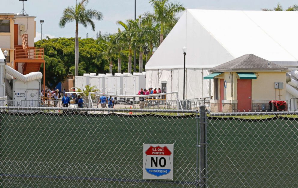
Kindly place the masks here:
[(126, 23), (117, 21), (117, 24), (124, 28), (123, 38), (126, 45), (128, 45), (128, 72), (131, 73), (132, 50), (134, 49), (132, 39), (135, 35), (135, 31), (133, 30), (132, 23), (129, 20), (126, 20)]

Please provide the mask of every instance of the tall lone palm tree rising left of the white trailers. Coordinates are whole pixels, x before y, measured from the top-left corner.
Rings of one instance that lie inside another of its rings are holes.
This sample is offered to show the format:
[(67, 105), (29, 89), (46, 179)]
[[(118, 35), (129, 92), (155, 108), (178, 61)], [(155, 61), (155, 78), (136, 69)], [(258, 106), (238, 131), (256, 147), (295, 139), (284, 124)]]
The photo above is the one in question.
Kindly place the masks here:
[(102, 20), (103, 15), (101, 12), (95, 9), (86, 9), (86, 5), (89, 0), (82, 0), (80, 3), (76, 4), (74, 7), (69, 6), (64, 9), (63, 15), (59, 21), (59, 27), (65, 27), (66, 23), (75, 21), (75, 76), (78, 76), (78, 65), (79, 65), (79, 23), (85, 28), (88, 25), (91, 26), (92, 30), (95, 31), (95, 20)]

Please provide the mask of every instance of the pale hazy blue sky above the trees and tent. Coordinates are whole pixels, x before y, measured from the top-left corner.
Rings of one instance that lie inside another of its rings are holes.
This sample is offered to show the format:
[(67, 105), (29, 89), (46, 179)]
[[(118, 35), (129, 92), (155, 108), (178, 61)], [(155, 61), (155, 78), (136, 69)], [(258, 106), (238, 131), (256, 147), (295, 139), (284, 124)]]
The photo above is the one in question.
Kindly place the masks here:
[[(78, 0), (79, 2), (80, 0)], [(172, 1), (172, 0), (170, 0)], [(174, 0), (174, 2), (177, 0)], [(74, 23), (69, 23), (65, 28), (59, 28), (59, 19), (62, 11), (67, 6), (75, 4), (75, 0), (28, 0), (24, 3), (24, 9), (29, 16), (36, 16), (35, 40), (41, 38), (41, 25), (39, 20), (44, 20), (43, 35), (51, 37), (73, 37)], [(152, 11), (149, 0), (136, 0), (136, 13), (140, 15), (146, 11)], [(222, 10), (260, 10), (261, 8), (273, 8), (278, 2), (284, 8), (297, 4), (296, 0), (180, 0), (187, 8), (192, 9), (222, 9)], [(0, 13), (19, 13), (22, 10), (22, 2), (19, 0), (0, 0)], [(117, 32), (117, 20), (134, 18), (134, 0), (90, 0), (87, 8), (95, 8), (101, 11), (104, 19), (96, 21), (96, 32)], [(89, 34), (95, 37), (96, 32), (91, 27), (79, 27), (79, 36), (82, 38)]]

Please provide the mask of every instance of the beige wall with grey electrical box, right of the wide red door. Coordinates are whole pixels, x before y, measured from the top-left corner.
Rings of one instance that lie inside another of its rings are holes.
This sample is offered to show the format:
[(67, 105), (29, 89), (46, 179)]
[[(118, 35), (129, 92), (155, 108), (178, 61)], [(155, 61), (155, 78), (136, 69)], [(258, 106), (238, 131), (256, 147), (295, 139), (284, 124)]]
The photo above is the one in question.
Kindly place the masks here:
[[(284, 89), (274, 88), (274, 82), (284, 82)], [(265, 103), (254, 100), (286, 100), (286, 73), (285, 72), (259, 72), (257, 79), (251, 82), (252, 103)], [(267, 102), (267, 101), (266, 101)]]

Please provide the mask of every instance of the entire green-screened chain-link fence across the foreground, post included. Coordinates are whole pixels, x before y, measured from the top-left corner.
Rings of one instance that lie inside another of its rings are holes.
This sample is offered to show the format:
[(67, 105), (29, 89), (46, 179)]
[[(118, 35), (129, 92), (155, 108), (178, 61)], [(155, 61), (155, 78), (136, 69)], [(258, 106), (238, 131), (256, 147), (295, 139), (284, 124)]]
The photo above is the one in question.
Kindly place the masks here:
[[(298, 187), (298, 112), (0, 109), (0, 187)], [(174, 144), (173, 180), (143, 143)]]

